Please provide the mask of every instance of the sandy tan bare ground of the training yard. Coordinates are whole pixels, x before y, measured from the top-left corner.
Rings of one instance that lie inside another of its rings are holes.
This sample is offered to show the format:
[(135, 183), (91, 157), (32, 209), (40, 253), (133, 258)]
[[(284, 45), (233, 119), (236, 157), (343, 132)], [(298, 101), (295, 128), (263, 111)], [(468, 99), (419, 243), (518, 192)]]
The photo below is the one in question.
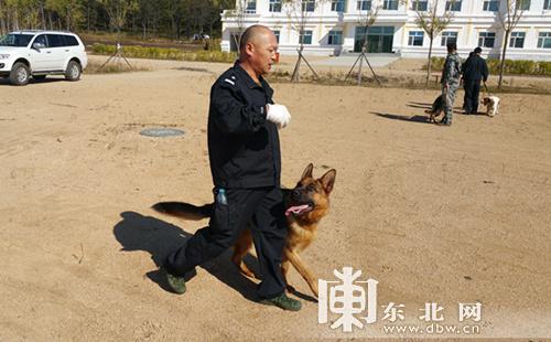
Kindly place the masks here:
[[(350, 266), (378, 281), (378, 321), (345, 333), (317, 323), (294, 270), (300, 312), (255, 302), (228, 253), (197, 268), (184, 296), (159, 285), (164, 255), (206, 222), (150, 206), (210, 201), (208, 93), (227, 65), (150, 65), (0, 81), (0, 341), (423, 338), (385, 327), (425, 327), (428, 302), (442, 306), (441, 324), (479, 329), (456, 338), (551, 338), (550, 96), (504, 95), (499, 116), (457, 114), (443, 128), (424, 122), (434, 90), (273, 85), (293, 115), (283, 184), (309, 162), (317, 175), (337, 169), (303, 259), (321, 279)], [(139, 135), (150, 127), (186, 135)], [(477, 301), (482, 320), (458, 322), (458, 303)], [(383, 319), (390, 302), (404, 321)]]

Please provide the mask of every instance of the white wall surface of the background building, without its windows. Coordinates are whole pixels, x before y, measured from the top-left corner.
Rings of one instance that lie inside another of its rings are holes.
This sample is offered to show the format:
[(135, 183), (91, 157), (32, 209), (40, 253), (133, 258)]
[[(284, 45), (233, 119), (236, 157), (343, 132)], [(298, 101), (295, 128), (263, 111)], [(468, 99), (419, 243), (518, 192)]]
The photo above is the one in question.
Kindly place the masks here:
[[(240, 0), (238, 0), (240, 1)], [(256, 13), (247, 14), (241, 21), (241, 26), (251, 24), (263, 24), (272, 30), (280, 31), (280, 52), (282, 54), (295, 54), (299, 46), (298, 30), (293, 28), (290, 20), (289, 9), (279, 13), (269, 12), (270, 0), (257, 0)], [(317, 0), (318, 1), (318, 0)], [(377, 0), (374, 0), (374, 3)], [(381, 1), (381, 0), (379, 0)], [(408, 44), (410, 31), (422, 31), (415, 24), (415, 12), (410, 10), (410, 3), (400, 3), (398, 10), (380, 10), (375, 26), (392, 26), (395, 30), (391, 53), (403, 57), (425, 57), (429, 52), (429, 38), (423, 36), (422, 46), (410, 46)], [(434, 1), (434, 0), (430, 0)], [(526, 11), (523, 18), (515, 29), (525, 32), (523, 47), (508, 47), (508, 58), (529, 58), (551, 61), (551, 49), (538, 47), (540, 32), (551, 32), (551, 10), (543, 10), (545, 0), (531, 0), (530, 10)], [(400, 1), (402, 2), (402, 1)], [(440, 0), (439, 11), (443, 12), (445, 0)], [(304, 54), (310, 55), (338, 55), (354, 52), (356, 28), (360, 26), (361, 12), (356, 8), (356, 0), (346, 1), (346, 10), (342, 13), (331, 10), (331, 0), (322, 1), (307, 20), (306, 30), (312, 31), (312, 44), (304, 45)], [(498, 14), (483, 10), (484, 0), (462, 0), (460, 12), (454, 12), (454, 18), (445, 31), (457, 32), (457, 46), (461, 54), (468, 54), (478, 46), (479, 32), (495, 32), (494, 47), (484, 47), (486, 56), (498, 56), (504, 40)], [(501, 0), (500, 9), (505, 8), (506, 1)], [(364, 12), (365, 13), (365, 12)], [(230, 50), (230, 33), (238, 32), (238, 21), (223, 13), (223, 41), (222, 49)], [(343, 31), (343, 44), (329, 45), (327, 35), (331, 30)], [(434, 39), (434, 55), (445, 55), (446, 49), (442, 46), (442, 34)], [(508, 42), (507, 42), (508, 43)]]

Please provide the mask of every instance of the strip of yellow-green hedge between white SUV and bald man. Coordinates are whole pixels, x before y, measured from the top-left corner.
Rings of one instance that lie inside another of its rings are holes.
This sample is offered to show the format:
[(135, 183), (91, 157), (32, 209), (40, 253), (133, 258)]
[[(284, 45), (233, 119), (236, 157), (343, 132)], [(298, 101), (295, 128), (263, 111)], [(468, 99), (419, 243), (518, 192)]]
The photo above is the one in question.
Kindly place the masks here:
[[(93, 53), (101, 55), (111, 55), (115, 53), (115, 45), (94, 44), (91, 46)], [(234, 63), (237, 58), (235, 53), (222, 51), (186, 51), (181, 49), (144, 47), (138, 45), (123, 46), (122, 51), (127, 57), (149, 60)]]

